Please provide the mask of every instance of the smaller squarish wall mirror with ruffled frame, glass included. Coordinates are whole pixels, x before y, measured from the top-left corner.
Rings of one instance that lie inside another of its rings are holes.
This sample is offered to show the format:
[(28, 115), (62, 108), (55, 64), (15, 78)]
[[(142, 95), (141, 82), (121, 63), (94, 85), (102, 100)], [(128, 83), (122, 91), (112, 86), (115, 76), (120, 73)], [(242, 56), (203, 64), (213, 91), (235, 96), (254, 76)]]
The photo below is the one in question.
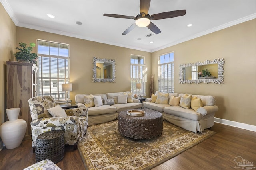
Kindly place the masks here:
[(92, 82), (116, 82), (116, 60), (93, 57)]

